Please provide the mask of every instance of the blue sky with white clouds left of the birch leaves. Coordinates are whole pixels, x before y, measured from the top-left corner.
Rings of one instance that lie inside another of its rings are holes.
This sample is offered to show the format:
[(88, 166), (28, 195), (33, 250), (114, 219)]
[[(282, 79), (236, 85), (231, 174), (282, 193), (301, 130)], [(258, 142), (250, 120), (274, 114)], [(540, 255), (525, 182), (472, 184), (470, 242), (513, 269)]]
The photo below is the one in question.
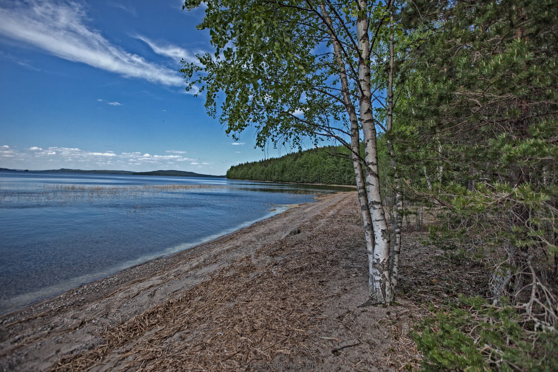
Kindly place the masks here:
[(213, 52), (180, 0), (0, 0), (0, 167), (224, 175), (254, 148), (186, 93), (180, 60)]

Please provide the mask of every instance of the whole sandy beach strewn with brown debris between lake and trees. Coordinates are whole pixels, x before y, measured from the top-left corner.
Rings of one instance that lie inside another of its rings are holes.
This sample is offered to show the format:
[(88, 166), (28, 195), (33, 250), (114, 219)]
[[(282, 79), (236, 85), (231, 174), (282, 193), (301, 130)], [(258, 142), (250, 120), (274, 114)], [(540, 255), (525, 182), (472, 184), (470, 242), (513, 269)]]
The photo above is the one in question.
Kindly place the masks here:
[(391, 306), (362, 306), (357, 194), (329, 195), (2, 316), (1, 369), (416, 368), (409, 332), (429, 313), (421, 260), (436, 254), (417, 243), (420, 234), (408, 233), (403, 246), (406, 294)]

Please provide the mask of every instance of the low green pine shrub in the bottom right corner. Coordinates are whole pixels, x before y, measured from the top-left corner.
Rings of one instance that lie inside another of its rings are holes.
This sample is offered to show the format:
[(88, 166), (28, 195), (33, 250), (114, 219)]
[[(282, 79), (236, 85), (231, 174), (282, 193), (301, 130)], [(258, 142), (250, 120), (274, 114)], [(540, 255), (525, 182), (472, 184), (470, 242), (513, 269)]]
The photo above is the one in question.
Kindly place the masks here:
[(516, 309), (460, 297), (441, 306), (413, 333), (425, 371), (532, 371), (558, 366), (558, 335), (526, 332)]

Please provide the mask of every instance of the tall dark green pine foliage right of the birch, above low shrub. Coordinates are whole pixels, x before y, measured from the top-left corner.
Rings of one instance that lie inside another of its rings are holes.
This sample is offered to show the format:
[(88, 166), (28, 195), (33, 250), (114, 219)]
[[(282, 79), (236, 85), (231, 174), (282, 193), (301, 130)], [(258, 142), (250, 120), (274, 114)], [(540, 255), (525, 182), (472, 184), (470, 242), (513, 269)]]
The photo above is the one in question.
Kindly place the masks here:
[[(441, 207), (431, 243), (490, 254), (527, 302), (531, 268), (551, 278), (558, 253), (558, 4), (413, 1), (400, 22), (429, 35), (398, 76), (408, 86), (394, 134), (407, 195)], [(542, 302), (543, 312), (556, 306)]]

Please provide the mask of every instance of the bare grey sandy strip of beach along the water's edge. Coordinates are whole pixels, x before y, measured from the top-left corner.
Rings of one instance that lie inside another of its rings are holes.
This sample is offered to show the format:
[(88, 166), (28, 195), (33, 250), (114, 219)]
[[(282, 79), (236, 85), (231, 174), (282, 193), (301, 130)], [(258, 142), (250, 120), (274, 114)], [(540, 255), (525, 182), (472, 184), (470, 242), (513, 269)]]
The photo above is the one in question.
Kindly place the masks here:
[[(193, 261), (190, 265), (186, 264), (186, 266), (190, 266), (186, 270), (193, 272), (193, 276), (198, 277), (194, 280), (188, 281), (188, 284), (190, 286), (198, 284), (199, 282), (206, 280), (209, 275), (216, 270), (222, 269), (232, 264), (236, 259), (238, 259), (238, 257), (240, 257), (240, 255), (248, 253), (233, 252), (233, 254), (223, 255), (223, 253), (226, 253), (227, 250), (236, 250), (234, 248), (238, 247), (227, 247), (227, 245), (238, 245), (234, 244), (234, 241), (238, 240), (239, 238), (242, 239), (243, 235), (250, 235), (251, 233), (253, 233), (254, 230), (261, 230), (268, 224), (284, 225), (283, 223), (281, 223), (281, 220), (284, 219), (285, 216), (292, 214), (293, 211), (299, 212), (298, 214), (305, 214), (306, 210), (308, 209), (315, 209), (316, 207), (319, 209), (319, 205), (321, 205), (321, 203), (323, 203), (324, 201), (327, 202), (331, 201), (332, 199), (341, 199), (343, 197), (346, 197), (346, 194), (348, 193), (340, 192), (330, 195), (321, 195), (316, 202), (295, 205), (294, 207), (291, 207), (286, 211), (280, 212), (268, 218), (264, 218), (257, 221), (256, 223), (244, 226), (243, 228), (233, 231), (232, 233), (224, 234), (222, 236), (219, 236), (218, 238), (206, 241), (205, 243), (187, 248), (185, 250), (181, 250), (177, 253), (158, 257), (145, 263), (134, 265), (133, 267), (123, 269), (111, 276), (83, 284), (79, 287), (69, 289), (68, 291), (64, 291), (42, 301), (32, 303), (31, 305), (23, 306), (21, 308), (17, 308), (16, 310), (3, 313), (2, 315), (0, 315), (0, 349), (3, 349), (3, 351), (0, 352), (0, 364), (3, 364), (2, 360), (4, 359), (4, 357), (9, 356), (9, 354), (7, 354), (9, 353), (9, 349), (12, 349), (12, 347), (6, 345), (6, 342), (8, 342), (8, 344), (12, 343), (9, 342), (8, 335), (9, 333), (11, 333), (9, 328), (22, 326), (20, 330), (15, 331), (16, 334), (19, 334), (15, 338), (20, 339), (21, 336), (24, 334), (33, 334), (36, 331), (40, 331), (42, 323), (51, 323), (52, 321), (56, 322), (56, 318), (58, 318), (58, 321), (60, 321), (59, 315), (57, 315), (57, 313), (59, 312), (69, 311), (71, 315), (66, 316), (66, 318), (75, 318), (76, 310), (78, 312), (83, 312), (83, 310), (80, 310), (81, 308), (96, 306), (99, 302), (103, 302), (105, 298), (113, 298), (117, 300), (126, 299), (126, 297), (134, 298), (136, 297), (135, 292), (137, 292), (135, 290), (135, 286), (139, 285), (139, 287), (143, 287), (143, 284), (150, 281), (155, 281), (157, 282), (157, 284), (161, 284), (163, 283), (163, 281), (161, 281), (161, 279), (155, 279), (157, 276), (169, 276), (169, 272), (177, 268), (180, 268), (180, 270), (182, 270), (181, 266), (184, 264), (185, 261)], [(278, 233), (276, 232), (275, 234), (271, 234), (275, 235), (271, 236), (271, 238), (270, 236), (268, 236), (270, 235), (269, 231), (267, 231), (264, 234), (260, 233), (259, 235), (261, 236), (259, 236), (259, 238), (262, 239), (262, 242), (266, 240), (277, 240), (281, 239), (282, 235), (288, 234), (289, 231), (290, 229), (286, 229), (286, 231), (279, 231)], [(254, 237), (249, 237), (248, 240), (252, 241), (253, 243), (257, 239)], [(211, 260), (209, 265), (205, 265), (206, 263), (208, 263), (209, 260)], [(199, 267), (201, 267), (201, 270), (199, 270)], [(150, 285), (147, 285), (147, 287), (150, 287)], [(171, 291), (166, 291), (165, 294), (172, 296), (172, 294), (176, 291), (176, 288), (172, 288)], [(134, 294), (132, 294), (132, 296), (129, 296), (131, 292), (134, 292)], [(121, 296), (118, 297), (119, 294)], [(118, 298), (114, 296), (117, 296)], [(162, 299), (166, 296), (160, 297), (161, 298), (159, 299), (162, 301)], [(119, 306), (117, 306), (117, 308), (121, 306), (132, 307), (127, 303), (121, 303), (119, 304)], [(145, 311), (149, 306), (150, 303), (147, 302), (142, 302), (140, 304), (134, 303), (132, 311), (127, 312), (125, 316), (122, 316), (120, 318), (123, 319), (137, 315), (141, 311)], [(81, 318), (81, 320), (84, 320), (83, 317), (79, 317)], [(85, 322), (91, 322), (94, 320), (90, 317), (85, 318), (89, 318), (87, 320), (84, 320)], [(108, 323), (112, 321), (113, 320), (109, 320)], [(62, 323), (67, 322), (62, 321)], [(66, 327), (62, 326), (62, 328)], [(29, 336), (25, 338), (28, 337)], [(35, 363), (38, 364), (32, 363), (32, 368), (26, 369), (24, 367), (22, 370), (44, 369), (44, 367), (46, 366), (46, 362), (40, 362), (39, 359), (40, 356), (37, 355), (37, 360), (35, 361)], [(25, 365), (27, 365), (27, 363), (25, 363)]]

